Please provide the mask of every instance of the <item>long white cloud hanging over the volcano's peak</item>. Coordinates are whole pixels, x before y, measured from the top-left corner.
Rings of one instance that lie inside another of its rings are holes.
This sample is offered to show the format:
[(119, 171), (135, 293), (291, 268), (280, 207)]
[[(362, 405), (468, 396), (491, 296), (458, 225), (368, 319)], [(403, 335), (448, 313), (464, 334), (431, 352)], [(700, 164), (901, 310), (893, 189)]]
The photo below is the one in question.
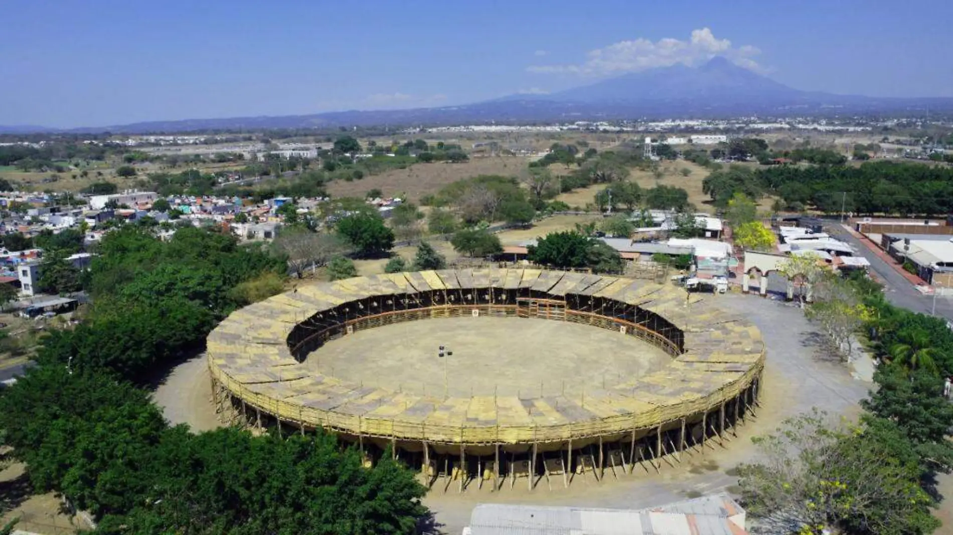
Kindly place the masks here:
[(727, 39), (717, 39), (712, 30), (692, 30), (687, 41), (666, 37), (652, 42), (639, 38), (619, 41), (608, 47), (591, 50), (586, 61), (578, 65), (534, 65), (530, 72), (568, 73), (582, 76), (608, 76), (676, 64), (696, 66), (715, 56), (723, 56), (745, 69), (761, 70), (752, 59), (760, 54), (751, 45), (734, 47)]

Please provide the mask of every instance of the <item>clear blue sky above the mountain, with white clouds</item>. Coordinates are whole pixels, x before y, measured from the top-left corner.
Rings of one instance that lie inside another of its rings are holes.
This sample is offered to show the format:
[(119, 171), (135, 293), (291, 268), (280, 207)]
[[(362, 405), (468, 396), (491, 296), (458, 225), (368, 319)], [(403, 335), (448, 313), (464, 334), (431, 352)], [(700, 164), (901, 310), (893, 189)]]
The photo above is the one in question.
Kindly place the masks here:
[(953, 2), (7, 0), (0, 124), (445, 106), (711, 55), (797, 89), (953, 96)]

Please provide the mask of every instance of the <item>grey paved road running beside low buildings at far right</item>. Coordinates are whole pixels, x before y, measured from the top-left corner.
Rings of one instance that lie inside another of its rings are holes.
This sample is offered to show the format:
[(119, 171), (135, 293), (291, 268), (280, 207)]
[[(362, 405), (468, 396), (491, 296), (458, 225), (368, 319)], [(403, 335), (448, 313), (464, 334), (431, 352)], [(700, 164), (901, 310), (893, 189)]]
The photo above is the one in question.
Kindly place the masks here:
[[(870, 268), (880, 277), (884, 283), (884, 295), (887, 301), (898, 306), (908, 308), (914, 312), (931, 313), (933, 308), (933, 296), (923, 295), (916, 287), (910, 284), (900, 273), (892, 266), (884, 262), (879, 256), (874, 254), (869, 248), (861, 243), (840, 223), (831, 223), (824, 226), (824, 231), (831, 236), (836, 237), (842, 242), (853, 246), (862, 257), (870, 262)], [(936, 297), (937, 315), (943, 316), (947, 321), (953, 322), (953, 301), (949, 296), (938, 295)]]

